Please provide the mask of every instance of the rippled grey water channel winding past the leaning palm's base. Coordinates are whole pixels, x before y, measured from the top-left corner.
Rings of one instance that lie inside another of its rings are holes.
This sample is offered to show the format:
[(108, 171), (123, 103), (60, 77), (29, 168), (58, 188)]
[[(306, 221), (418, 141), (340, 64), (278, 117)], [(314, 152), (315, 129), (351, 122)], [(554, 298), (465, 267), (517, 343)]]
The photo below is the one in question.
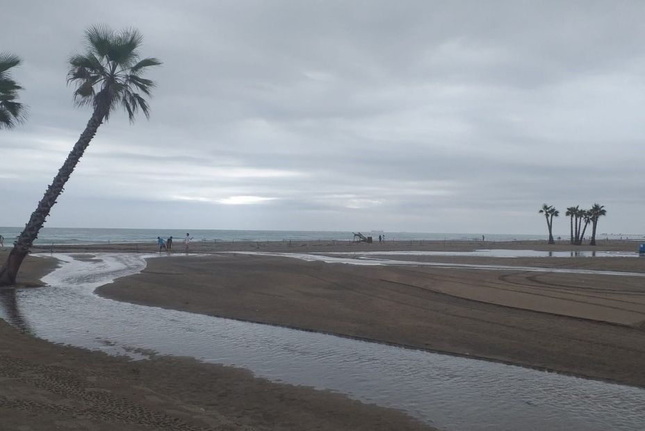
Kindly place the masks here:
[(49, 287), (0, 291), (0, 317), (49, 341), (136, 359), (144, 356), (135, 352), (154, 350), (241, 366), (403, 409), (443, 430), (645, 429), (644, 389), (113, 301), (94, 289), (142, 271), (145, 256), (54, 257), (63, 264), (44, 278)]

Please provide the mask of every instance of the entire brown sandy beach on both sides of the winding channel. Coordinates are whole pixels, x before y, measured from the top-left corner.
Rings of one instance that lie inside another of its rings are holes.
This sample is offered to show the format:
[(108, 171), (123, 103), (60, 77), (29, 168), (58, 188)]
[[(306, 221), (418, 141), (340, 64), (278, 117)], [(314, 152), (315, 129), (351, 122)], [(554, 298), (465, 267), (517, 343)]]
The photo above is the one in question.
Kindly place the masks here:
[[(607, 242), (595, 249), (633, 252), (635, 246), (635, 242)], [(99, 287), (97, 294), (118, 301), (327, 332), (645, 387), (643, 278), (523, 269), (359, 267), (234, 253), (360, 255), (364, 251), (481, 248), (580, 251), (591, 250), (589, 247), (548, 246), (541, 242), (195, 243), (190, 250), (195, 254), (188, 256), (181, 253), (183, 248), (179, 244), (176, 248), (177, 255), (148, 259), (142, 273)], [(49, 249), (35, 250), (39, 251)], [(154, 253), (156, 246), (58, 246), (54, 251)], [(637, 257), (396, 258), (645, 272), (645, 261)], [(22, 280), (34, 285), (53, 262), (31, 257), (27, 264)], [(79, 421), (95, 427), (88, 429), (99, 430), (113, 429), (110, 427), (114, 423), (128, 430), (193, 429), (190, 426), (231, 430), (429, 429), (400, 412), (364, 405), (338, 394), (274, 384), (230, 367), (199, 364), (185, 358), (129, 362), (102, 353), (54, 346), (20, 334), (6, 324), (1, 327), (1, 334), (0, 357), (5, 365), (0, 375), (8, 384), (0, 386), (0, 414), (15, 424), (26, 423), (31, 427), (26, 429), (48, 429), (42, 428), (44, 419), (36, 415), (44, 415), (47, 423), (60, 421), (61, 426), (68, 427), (61, 429), (74, 429)], [(39, 377), (32, 378), (33, 375)], [(60, 379), (58, 383), (42, 384), (50, 375), (72, 375), (79, 386), (60, 389), (56, 386), (62, 384)], [(87, 393), (110, 394), (120, 402), (99, 414), (96, 398), (85, 397)], [(58, 405), (65, 408), (56, 410)], [(123, 408), (129, 413), (123, 414)], [(186, 428), (179, 425), (172, 428), (175, 426), (169, 425), (172, 421), (185, 423)]]

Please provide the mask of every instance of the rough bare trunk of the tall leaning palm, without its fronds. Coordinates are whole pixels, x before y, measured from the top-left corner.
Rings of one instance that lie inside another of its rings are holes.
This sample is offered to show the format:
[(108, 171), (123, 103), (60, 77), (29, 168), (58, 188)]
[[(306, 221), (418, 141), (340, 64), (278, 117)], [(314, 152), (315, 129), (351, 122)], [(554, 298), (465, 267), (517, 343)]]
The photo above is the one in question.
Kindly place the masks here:
[[(38, 232), (42, 225), (49, 215), (51, 207), (56, 203), (56, 199), (63, 193), (65, 183), (70, 179), (70, 175), (74, 171), (74, 167), (83, 157), (85, 149), (88, 148), (90, 141), (97, 133), (97, 129), (101, 125), (107, 108), (104, 108), (105, 105), (97, 106), (88, 125), (85, 126), (85, 130), (81, 133), (81, 137), (74, 144), (74, 148), (70, 151), (70, 154), (67, 155), (67, 160), (63, 163), (63, 166), (58, 170), (58, 174), (54, 177), (54, 181), (47, 188), (47, 192), (44, 192), (44, 196), (38, 203), (38, 207), (34, 212), (31, 213), (28, 223), (25, 225), (24, 230), (18, 237), (17, 241), (13, 244), (13, 249), (9, 253), (9, 257), (5, 264), (0, 268), (0, 286), (6, 285), (15, 285), (16, 276), (18, 269), (22, 261), (29, 253), (29, 249), (33, 245), (33, 242), (38, 238)], [(109, 106), (109, 105), (108, 105)]]

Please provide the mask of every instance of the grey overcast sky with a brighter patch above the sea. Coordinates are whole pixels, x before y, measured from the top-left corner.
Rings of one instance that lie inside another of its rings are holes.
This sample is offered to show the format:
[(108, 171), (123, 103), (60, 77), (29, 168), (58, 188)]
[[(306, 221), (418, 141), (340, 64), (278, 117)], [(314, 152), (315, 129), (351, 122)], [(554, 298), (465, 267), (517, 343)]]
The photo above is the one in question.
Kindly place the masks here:
[(49, 227), (541, 233), (542, 203), (645, 232), (644, 1), (11, 1), (28, 121), (0, 133), (0, 226), (24, 226), (90, 117), (91, 24), (164, 62)]

